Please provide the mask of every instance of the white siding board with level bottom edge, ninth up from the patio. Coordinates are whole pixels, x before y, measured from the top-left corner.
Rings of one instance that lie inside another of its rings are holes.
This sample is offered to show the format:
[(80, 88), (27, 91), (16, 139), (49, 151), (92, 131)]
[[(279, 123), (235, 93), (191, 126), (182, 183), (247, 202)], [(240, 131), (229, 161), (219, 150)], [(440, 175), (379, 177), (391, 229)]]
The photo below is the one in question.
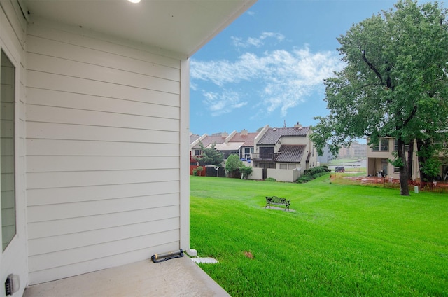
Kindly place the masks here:
[(28, 156), (179, 156), (179, 144), (27, 139)]

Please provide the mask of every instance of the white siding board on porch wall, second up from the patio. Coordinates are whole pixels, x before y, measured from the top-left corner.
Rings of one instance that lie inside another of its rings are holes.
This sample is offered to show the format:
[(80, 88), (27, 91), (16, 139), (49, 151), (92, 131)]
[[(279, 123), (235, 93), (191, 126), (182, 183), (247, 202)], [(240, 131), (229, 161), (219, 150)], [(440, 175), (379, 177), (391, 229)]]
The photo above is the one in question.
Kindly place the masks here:
[(71, 265), (82, 261), (94, 260), (95, 258), (115, 256), (130, 250), (144, 249), (148, 246), (176, 241), (179, 241), (179, 230), (171, 230), (163, 233), (133, 237), (127, 240), (95, 244), (87, 247), (79, 247), (77, 249), (56, 251), (49, 254), (30, 256), (29, 269), (31, 271), (36, 271)]

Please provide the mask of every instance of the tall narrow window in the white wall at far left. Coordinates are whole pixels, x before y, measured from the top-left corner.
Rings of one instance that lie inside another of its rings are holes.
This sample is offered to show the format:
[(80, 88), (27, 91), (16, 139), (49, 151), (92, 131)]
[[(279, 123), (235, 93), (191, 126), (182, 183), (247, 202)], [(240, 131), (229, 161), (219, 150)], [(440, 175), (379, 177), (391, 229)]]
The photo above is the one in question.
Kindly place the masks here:
[(15, 220), (15, 67), (0, 54), (0, 164), (1, 164), (1, 245), (3, 251), (16, 233)]

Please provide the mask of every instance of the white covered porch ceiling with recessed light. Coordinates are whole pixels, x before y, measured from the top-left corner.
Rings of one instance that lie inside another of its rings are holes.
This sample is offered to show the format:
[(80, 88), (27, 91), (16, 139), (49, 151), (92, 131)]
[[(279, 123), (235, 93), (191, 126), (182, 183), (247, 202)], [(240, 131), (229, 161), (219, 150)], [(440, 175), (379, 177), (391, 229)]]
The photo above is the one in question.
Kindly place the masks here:
[(18, 0), (25, 18), (83, 27), (190, 57), (256, 0)]

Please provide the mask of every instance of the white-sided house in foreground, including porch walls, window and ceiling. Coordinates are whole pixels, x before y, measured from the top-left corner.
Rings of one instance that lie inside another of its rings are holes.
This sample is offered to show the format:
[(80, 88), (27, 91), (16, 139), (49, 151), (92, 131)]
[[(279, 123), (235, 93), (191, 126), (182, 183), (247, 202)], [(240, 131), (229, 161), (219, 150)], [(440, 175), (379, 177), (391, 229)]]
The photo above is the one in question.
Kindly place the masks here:
[(0, 281), (190, 251), (189, 57), (254, 1), (0, 1)]

